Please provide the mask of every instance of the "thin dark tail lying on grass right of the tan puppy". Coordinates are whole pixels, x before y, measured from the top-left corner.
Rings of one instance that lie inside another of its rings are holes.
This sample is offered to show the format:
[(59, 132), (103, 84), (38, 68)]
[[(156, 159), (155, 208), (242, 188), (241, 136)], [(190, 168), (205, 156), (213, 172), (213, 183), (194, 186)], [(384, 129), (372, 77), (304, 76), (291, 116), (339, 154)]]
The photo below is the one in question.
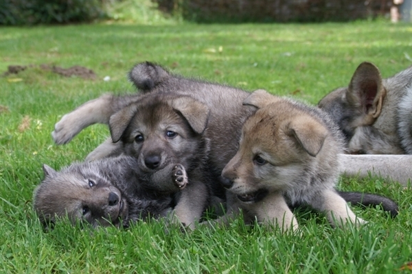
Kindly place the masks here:
[(354, 206), (382, 206), (383, 210), (389, 212), (391, 217), (394, 218), (398, 215), (398, 204), (387, 198), (371, 193), (362, 192), (346, 192), (338, 191), (339, 195), (345, 199), (348, 203), (352, 203)]

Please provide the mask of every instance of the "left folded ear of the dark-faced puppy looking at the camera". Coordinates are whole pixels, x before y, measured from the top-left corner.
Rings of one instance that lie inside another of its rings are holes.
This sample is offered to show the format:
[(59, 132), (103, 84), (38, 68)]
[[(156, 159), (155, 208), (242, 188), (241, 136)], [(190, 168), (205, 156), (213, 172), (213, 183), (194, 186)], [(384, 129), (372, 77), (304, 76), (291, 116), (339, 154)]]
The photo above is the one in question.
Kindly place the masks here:
[(119, 110), (110, 117), (108, 121), (108, 128), (110, 129), (113, 142), (118, 142), (120, 138), (122, 138), (126, 127), (130, 123), (130, 120), (132, 120), (133, 116), (135, 116), (136, 112), (137, 105), (132, 104), (122, 108), (122, 110)]

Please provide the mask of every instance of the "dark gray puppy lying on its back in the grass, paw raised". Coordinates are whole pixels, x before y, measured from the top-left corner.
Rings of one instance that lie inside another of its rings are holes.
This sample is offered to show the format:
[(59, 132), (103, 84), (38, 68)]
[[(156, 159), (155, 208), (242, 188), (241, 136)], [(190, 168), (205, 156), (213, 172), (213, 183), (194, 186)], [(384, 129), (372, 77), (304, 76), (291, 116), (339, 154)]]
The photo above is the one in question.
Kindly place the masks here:
[(149, 216), (166, 216), (174, 195), (187, 184), (185, 169), (174, 166), (170, 189), (153, 191), (130, 156), (74, 163), (61, 171), (43, 165), (44, 179), (34, 190), (34, 210), (48, 226), (67, 216), (72, 223), (86, 221), (93, 227), (115, 225)]

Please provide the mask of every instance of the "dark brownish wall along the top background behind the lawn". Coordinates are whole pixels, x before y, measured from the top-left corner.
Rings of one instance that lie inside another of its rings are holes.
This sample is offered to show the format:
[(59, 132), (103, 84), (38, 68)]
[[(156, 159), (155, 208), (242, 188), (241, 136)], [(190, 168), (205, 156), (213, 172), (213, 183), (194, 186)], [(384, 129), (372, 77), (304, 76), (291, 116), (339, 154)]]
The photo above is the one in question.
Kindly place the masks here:
[(199, 23), (350, 21), (388, 15), (391, 0), (153, 0)]

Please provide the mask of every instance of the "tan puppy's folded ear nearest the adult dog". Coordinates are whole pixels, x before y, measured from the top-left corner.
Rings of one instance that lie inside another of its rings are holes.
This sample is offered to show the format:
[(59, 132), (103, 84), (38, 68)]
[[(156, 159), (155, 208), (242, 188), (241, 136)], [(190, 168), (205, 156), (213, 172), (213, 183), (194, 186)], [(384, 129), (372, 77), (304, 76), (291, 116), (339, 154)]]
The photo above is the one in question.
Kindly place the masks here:
[(296, 138), (301, 147), (315, 157), (323, 146), (329, 131), (310, 116), (297, 117), (286, 129), (286, 134)]

